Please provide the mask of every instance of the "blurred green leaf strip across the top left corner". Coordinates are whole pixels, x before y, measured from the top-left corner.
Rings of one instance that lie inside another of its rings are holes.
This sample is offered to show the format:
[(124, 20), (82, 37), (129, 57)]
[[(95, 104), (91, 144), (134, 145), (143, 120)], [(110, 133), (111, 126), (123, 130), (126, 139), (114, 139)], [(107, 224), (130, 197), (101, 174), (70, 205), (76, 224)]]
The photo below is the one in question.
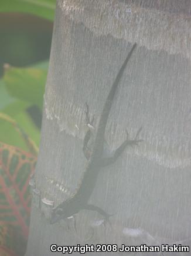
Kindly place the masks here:
[(25, 12), (53, 21), (56, 0), (1, 0), (0, 12)]

